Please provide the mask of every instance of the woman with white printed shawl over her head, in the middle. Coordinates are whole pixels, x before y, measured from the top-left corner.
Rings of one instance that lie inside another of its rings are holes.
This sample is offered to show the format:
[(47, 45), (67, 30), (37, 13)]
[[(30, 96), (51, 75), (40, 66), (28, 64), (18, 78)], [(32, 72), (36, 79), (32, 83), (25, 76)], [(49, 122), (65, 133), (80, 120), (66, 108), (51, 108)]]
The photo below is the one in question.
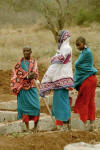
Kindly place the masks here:
[(56, 118), (58, 129), (71, 117), (69, 89), (73, 87), (72, 48), (69, 44), (70, 34), (61, 31), (58, 39), (58, 50), (51, 59), (51, 65), (45, 73), (41, 85), (40, 95), (54, 90), (52, 115)]

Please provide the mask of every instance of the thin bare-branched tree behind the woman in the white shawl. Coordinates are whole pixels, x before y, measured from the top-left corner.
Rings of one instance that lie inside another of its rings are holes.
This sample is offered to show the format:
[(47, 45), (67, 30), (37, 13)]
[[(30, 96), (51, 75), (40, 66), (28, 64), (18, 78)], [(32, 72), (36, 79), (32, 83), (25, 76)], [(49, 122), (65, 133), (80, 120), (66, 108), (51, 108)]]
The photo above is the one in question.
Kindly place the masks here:
[(53, 33), (55, 41), (59, 30), (72, 21), (71, 5), (69, 0), (41, 0), (41, 12), (43, 13), (48, 29)]

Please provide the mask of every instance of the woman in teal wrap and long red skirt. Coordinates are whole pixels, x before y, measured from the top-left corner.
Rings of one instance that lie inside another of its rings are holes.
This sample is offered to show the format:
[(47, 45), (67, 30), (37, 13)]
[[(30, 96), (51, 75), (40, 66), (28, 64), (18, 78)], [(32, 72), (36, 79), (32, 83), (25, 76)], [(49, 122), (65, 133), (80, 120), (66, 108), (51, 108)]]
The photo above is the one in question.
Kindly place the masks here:
[(93, 130), (95, 120), (95, 89), (97, 84), (97, 69), (93, 67), (91, 50), (86, 46), (86, 40), (78, 37), (76, 46), (81, 54), (75, 62), (74, 86), (78, 90), (74, 112), (79, 113), (85, 127), (90, 120), (90, 131)]

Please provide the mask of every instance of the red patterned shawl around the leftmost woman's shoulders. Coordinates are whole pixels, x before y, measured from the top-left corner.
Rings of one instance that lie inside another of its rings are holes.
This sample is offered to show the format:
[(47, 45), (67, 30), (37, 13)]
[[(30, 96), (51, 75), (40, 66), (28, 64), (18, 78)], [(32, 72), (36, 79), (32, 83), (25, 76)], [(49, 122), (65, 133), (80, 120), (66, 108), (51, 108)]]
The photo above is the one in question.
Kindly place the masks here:
[(35, 59), (29, 60), (29, 68), (26, 72), (21, 67), (21, 62), (24, 61), (24, 58), (22, 58), (16, 65), (12, 73), (11, 77), (11, 90), (13, 94), (18, 95), (19, 91), (21, 89), (28, 90), (32, 87), (36, 87), (34, 80), (27, 80), (28, 72), (32, 71), (36, 74), (36, 80), (38, 79), (38, 71), (37, 71), (37, 63)]

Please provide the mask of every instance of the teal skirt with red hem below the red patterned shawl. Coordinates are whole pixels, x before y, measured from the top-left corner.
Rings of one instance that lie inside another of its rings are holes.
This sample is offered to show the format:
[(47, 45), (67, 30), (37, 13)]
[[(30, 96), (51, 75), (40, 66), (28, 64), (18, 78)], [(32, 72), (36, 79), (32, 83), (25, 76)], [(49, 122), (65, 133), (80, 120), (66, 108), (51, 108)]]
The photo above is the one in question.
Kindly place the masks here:
[(17, 96), (17, 111), (18, 119), (23, 119), (24, 122), (39, 119), (40, 103), (36, 88), (29, 90), (21, 90)]

